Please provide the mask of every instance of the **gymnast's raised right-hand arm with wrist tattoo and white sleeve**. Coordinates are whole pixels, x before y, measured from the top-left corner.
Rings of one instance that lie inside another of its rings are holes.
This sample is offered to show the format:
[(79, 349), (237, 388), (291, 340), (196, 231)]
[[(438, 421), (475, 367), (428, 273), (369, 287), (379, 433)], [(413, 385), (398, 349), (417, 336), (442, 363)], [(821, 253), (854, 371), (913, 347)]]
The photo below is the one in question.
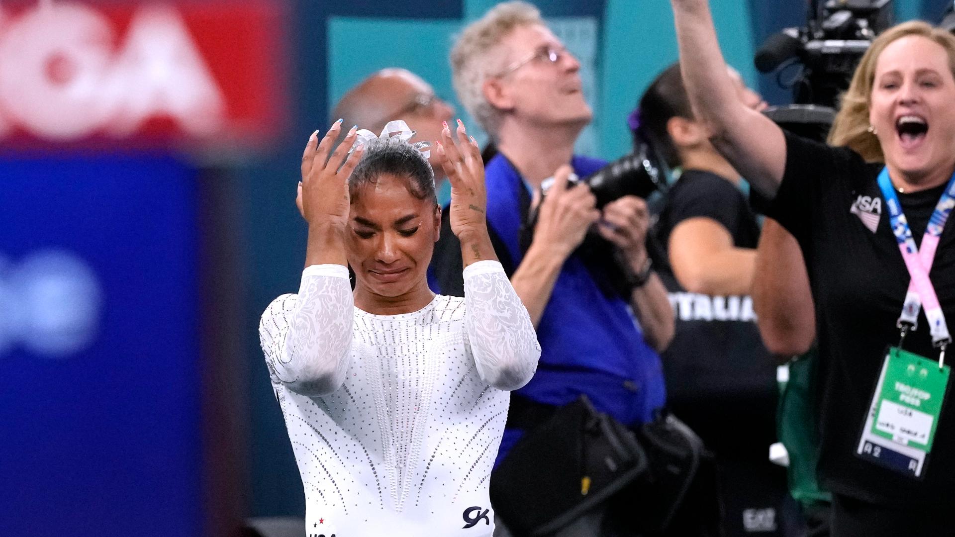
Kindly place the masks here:
[(541, 345), (491, 246), (477, 141), (467, 137), (459, 120), (455, 138), (445, 126), (438, 160), (451, 182), (451, 230), (461, 243), (465, 331), (481, 379), (500, 390), (517, 390), (534, 375)]

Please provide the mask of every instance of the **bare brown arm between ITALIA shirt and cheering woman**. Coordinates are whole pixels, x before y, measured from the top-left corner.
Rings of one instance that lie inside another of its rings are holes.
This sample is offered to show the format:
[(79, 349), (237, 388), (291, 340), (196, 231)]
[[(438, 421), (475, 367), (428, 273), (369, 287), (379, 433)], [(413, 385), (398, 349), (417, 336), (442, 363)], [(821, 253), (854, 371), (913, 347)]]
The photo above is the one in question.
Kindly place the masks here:
[(756, 249), (753, 309), (766, 348), (780, 362), (809, 350), (816, 339), (816, 308), (796, 238), (766, 219)]

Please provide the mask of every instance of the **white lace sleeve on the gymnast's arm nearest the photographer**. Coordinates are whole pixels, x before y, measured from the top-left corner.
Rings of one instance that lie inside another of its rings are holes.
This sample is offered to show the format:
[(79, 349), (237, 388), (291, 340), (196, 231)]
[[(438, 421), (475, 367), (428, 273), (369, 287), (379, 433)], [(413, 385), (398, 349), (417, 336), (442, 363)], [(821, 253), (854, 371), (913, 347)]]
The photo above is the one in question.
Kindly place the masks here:
[(481, 378), (517, 390), (537, 370), (541, 345), (530, 315), (497, 261), (464, 269), (464, 324)]

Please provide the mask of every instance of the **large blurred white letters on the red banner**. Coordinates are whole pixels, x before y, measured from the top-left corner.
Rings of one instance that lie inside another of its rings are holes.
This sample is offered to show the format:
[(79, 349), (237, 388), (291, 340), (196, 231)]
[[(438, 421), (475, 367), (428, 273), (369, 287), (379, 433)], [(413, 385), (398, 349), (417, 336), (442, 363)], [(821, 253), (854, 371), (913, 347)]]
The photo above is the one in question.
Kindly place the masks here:
[(79, 4), (0, 12), (0, 136), (17, 126), (50, 140), (128, 136), (156, 117), (195, 136), (222, 126), (222, 90), (177, 11), (139, 9), (118, 51), (115, 33)]

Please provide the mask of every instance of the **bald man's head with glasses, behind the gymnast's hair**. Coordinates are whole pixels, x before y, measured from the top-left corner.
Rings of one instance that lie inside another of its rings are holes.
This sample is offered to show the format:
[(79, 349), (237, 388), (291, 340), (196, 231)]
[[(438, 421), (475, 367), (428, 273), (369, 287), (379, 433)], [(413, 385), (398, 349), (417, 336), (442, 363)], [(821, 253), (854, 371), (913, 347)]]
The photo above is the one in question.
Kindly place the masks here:
[[(412, 141), (438, 140), (441, 121), (450, 121), (455, 109), (440, 98), (419, 76), (405, 69), (383, 69), (351, 88), (331, 111), (330, 121), (345, 119), (344, 125), (358, 125), (378, 134), (394, 119), (401, 119), (415, 131)], [(345, 131), (345, 129), (342, 129)], [(435, 152), (432, 152), (435, 156)], [(436, 178), (443, 176), (435, 166)]]

